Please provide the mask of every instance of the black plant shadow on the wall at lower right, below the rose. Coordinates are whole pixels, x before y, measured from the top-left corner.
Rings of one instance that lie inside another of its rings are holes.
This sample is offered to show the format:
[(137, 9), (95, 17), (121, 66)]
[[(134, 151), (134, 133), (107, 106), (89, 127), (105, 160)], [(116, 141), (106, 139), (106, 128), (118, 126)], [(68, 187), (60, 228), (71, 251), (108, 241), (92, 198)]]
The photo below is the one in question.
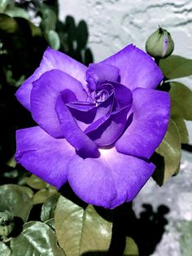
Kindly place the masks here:
[(111, 245), (108, 252), (87, 252), (82, 256), (124, 255), (125, 239), (130, 236), (136, 242), (139, 256), (148, 256), (155, 251), (165, 231), (168, 220), (166, 205), (159, 205), (155, 212), (151, 205), (142, 205), (144, 210), (139, 218), (134, 214), (132, 204), (127, 203), (114, 210)]

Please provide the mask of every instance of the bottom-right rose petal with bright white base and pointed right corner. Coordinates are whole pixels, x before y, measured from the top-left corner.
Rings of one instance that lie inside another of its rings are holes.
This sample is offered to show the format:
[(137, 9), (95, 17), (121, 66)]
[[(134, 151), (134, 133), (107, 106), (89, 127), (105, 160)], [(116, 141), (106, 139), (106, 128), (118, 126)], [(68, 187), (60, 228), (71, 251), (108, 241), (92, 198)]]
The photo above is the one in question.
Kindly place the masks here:
[(142, 189), (155, 170), (155, 166), (142, 159), (126, 156), (116, 152), (115, 148), (101, 150), (101, 155), (111, 168), (115, 179), (116, 198), (111, 201), (111, 208), (121, 205), (124, 201), (132, 201)]

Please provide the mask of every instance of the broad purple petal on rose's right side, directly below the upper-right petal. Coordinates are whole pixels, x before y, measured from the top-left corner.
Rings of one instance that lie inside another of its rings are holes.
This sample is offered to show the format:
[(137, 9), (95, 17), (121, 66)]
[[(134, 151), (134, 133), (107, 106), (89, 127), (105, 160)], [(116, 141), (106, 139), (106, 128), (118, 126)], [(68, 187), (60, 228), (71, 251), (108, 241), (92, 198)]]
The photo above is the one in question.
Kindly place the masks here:
[(150, 158), (168, 129), (170, 99), (167, 92), (133, 90), (133, 121), (116, 142), (116, 150), (134, 157)]

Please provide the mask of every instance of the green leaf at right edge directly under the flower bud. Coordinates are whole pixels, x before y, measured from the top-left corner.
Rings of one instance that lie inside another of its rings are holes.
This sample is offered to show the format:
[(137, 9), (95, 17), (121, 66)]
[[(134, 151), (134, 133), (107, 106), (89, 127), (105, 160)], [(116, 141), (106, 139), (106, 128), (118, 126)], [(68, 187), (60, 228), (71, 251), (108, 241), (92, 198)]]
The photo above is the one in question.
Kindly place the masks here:
[(171, 55), (166, 59), (160, 60), (159, 67), (168, 79), (192, 75), (192, 60), (178, 55)]

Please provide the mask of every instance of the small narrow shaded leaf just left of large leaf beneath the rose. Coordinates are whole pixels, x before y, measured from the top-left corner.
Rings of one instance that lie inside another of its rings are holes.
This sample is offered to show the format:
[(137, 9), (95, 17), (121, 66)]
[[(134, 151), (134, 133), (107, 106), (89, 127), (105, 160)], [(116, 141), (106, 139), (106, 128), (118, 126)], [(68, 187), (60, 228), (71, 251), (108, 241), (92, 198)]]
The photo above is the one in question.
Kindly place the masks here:
[(42, 205), (41, 208), (41, 221), (46, 222), (50, 218), (54, 218), (55, 215), (55, 208), (59, 199), (59, 193), (56, 193)]

